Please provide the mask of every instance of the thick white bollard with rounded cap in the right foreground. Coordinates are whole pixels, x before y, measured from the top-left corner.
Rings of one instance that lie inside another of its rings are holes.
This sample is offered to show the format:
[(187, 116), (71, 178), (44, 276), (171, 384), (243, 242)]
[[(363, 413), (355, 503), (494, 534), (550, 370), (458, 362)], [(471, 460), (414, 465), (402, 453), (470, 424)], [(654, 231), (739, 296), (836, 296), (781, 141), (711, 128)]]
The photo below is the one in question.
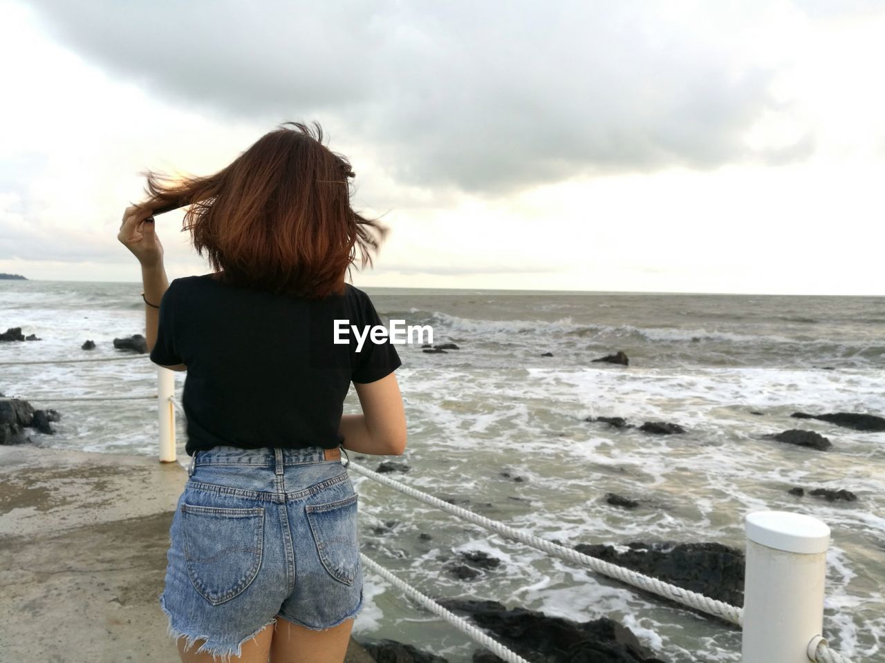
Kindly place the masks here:
[(746, 520), (743, 663), (808, 663), (822, 635), (830, 530), (810, 515), (758, 511)]

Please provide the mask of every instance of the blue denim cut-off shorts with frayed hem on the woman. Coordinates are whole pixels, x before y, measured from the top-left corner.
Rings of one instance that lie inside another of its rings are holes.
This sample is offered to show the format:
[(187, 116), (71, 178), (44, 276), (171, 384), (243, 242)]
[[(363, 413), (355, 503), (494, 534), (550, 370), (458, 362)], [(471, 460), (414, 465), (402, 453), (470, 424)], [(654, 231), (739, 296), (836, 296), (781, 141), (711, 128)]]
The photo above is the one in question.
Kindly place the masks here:
[(313, 630), (356, 617), (358, 497), (337, 451), (194, 453), (159, 598), (169, 636), (186, 636), (186, 649), (204, 638), (196, 652), (226, 661), (277, 617)]

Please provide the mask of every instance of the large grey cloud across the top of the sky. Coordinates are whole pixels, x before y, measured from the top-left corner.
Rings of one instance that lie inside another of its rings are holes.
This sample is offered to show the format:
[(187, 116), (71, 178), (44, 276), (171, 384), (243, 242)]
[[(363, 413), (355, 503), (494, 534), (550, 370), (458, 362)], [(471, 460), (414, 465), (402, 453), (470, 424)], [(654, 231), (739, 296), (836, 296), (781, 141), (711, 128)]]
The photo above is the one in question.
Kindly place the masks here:
[(627, 0), (33, 6), (62, 42), (156, 95), (268, 129), (331, 118), (417, 187), (503, 194), (594, 173), (781, 163), (813, 146), (810, 135), (775, 154), (743, 144), (777, 105), (777, 72), (743, 64), (752, 43), (720, 41), (760, 20), (761, 5), (701, 4), (696, 17)]

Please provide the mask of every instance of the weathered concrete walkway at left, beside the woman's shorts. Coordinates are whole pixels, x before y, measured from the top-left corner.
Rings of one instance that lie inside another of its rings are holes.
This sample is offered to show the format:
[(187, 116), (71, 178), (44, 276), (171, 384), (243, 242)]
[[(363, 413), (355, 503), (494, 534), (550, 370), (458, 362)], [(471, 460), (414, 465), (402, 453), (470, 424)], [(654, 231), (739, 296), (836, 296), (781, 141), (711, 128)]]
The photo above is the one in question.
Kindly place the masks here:
[[(156, 458), (0, 446), (0, 659), (179, 661), (159, 595), (187, 478)], [(351, 639), (346, 663), (373, 660)]]

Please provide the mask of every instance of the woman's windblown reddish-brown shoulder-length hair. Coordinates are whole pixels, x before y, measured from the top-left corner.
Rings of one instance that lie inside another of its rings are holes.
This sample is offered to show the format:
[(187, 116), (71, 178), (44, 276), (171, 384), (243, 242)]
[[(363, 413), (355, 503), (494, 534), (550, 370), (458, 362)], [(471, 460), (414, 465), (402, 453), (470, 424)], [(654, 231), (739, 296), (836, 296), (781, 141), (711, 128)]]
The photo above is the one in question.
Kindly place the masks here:
[(357, 251), (360, 268), (371, 266), (388, 228), (350, 207), (350, 163), (322, 144), (322, 128), (313, 124), (315, 134), (283, 123), (208, 177), (146, 171), (142, 207), (189, 204), (181, 232), (191, 232), (199, 255), (205, 249), (222, 282), (304, 297), (341, 294)]

